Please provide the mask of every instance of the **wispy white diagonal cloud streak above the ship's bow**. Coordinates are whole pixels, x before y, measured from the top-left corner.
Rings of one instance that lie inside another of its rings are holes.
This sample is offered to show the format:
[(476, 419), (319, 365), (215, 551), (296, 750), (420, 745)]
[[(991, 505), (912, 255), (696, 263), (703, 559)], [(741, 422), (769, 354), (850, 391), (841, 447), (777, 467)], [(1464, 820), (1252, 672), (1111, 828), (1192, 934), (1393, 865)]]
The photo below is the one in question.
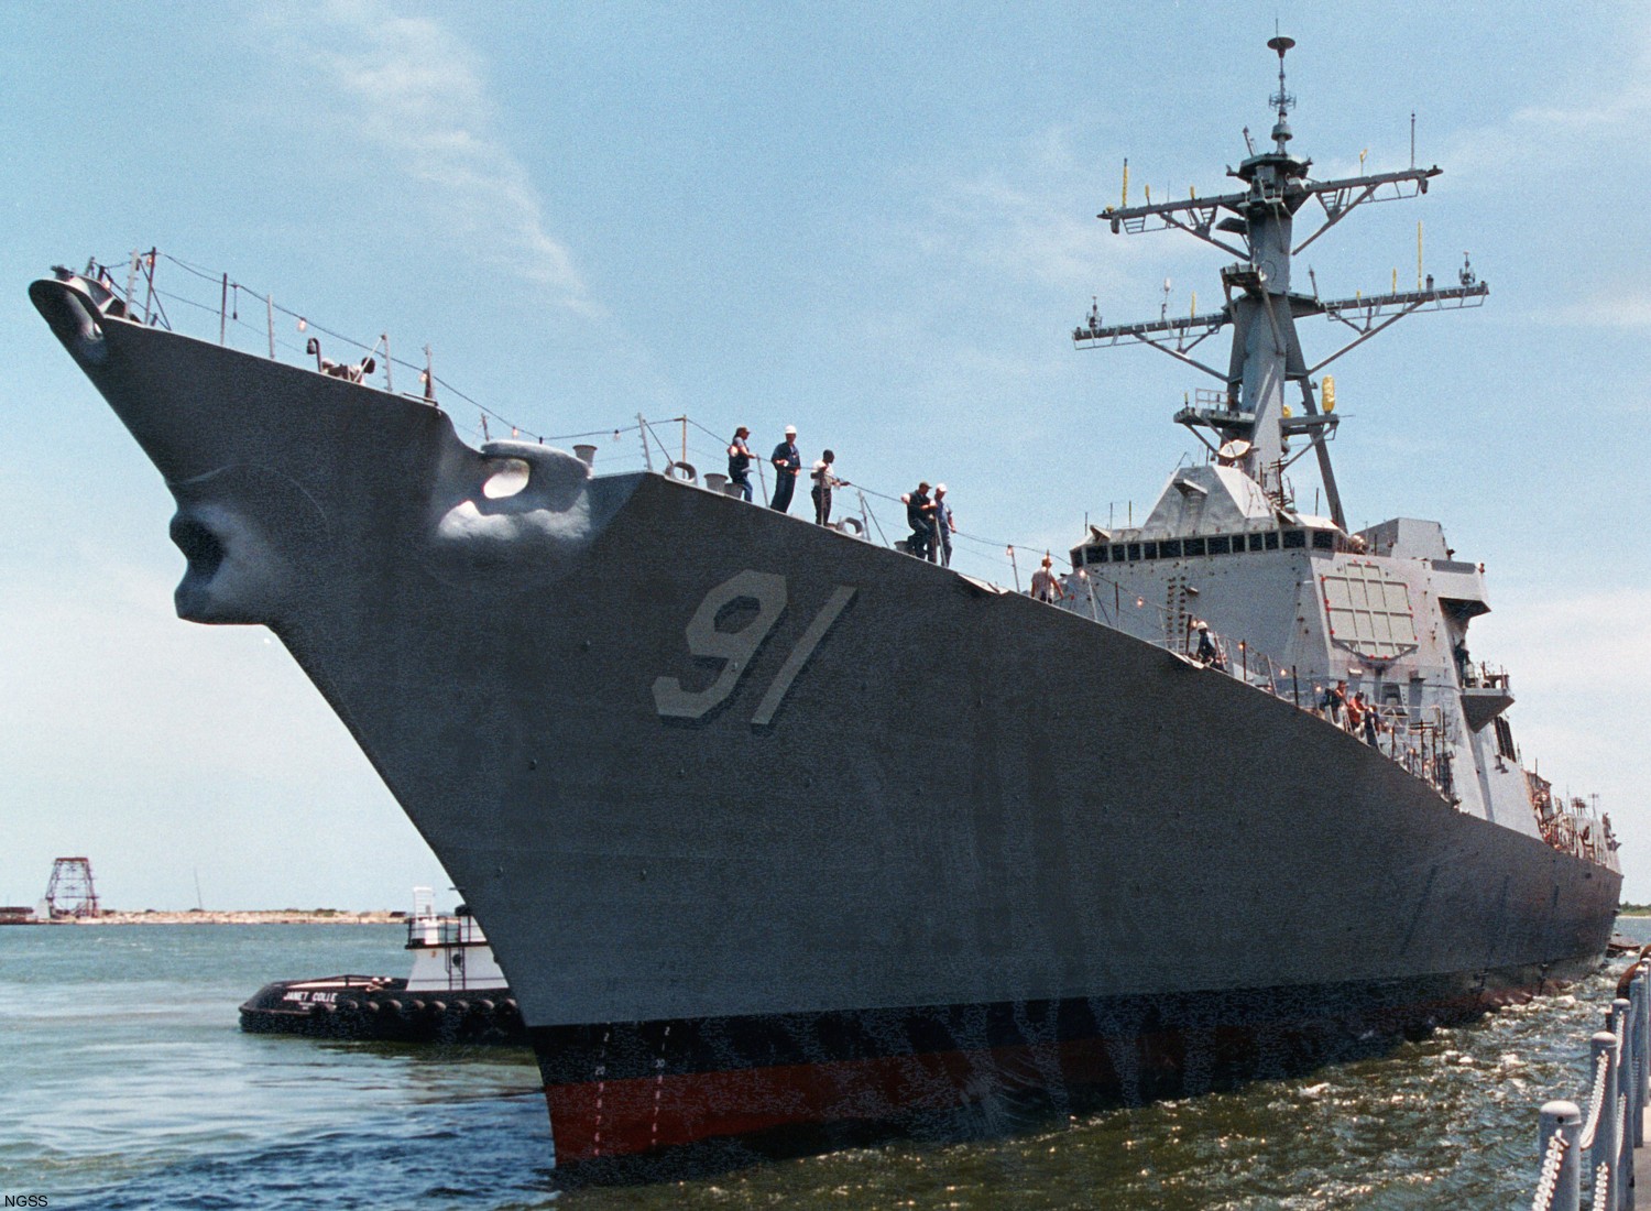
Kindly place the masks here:
[(568, 248), (546, 231), (532, 175), (492, 131), (474, 51), (438, 21), (371, 0), (334, 3), (322, 20), (319, 36), (302, 31), (302, 58), (322, 76), (315, 104), (330, 99), (334, 124), (368, 144), (376, 165), (404, 173), (406, 197), (429, 211), (431, 228), (573, 311), (599, 311)]

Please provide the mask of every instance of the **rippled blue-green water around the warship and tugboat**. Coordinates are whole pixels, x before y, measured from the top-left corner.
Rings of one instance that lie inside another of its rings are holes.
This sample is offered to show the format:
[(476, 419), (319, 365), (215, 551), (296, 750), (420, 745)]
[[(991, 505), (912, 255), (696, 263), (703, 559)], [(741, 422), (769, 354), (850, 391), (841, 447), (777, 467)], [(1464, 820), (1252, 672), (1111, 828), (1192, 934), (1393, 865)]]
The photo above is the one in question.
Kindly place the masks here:
[[(1651, 940), (1651, 922), (1623, 922)], [(243, 1034), (277, 978), (404, 973), (400, 927), (0, 928), (0, 1193), (96, 1208), (1509, 1208), (1611, 995), (1014, 1140), (558, 1191), (528, 1052)]]

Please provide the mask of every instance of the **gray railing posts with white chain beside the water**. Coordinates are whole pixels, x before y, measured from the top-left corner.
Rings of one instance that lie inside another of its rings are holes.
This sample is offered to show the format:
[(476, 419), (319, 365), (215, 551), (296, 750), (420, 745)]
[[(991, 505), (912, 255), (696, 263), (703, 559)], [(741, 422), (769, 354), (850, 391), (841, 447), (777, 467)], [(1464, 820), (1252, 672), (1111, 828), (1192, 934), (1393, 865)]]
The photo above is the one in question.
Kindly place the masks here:
[[(1651, 1099), (1651, 947), (1623, 973), (1605, 1029), (1588, 1041), (1588, 1110), (1547, 1102), (1539, 1115), (1530, 1211), (1626, 1211), (1634, 1206), (1634, 1148)], [(1587, 1181), (1583, 1175), (1587, 1173)], [(1587, 1186), (1588, 1199), (1583, 1201)]]

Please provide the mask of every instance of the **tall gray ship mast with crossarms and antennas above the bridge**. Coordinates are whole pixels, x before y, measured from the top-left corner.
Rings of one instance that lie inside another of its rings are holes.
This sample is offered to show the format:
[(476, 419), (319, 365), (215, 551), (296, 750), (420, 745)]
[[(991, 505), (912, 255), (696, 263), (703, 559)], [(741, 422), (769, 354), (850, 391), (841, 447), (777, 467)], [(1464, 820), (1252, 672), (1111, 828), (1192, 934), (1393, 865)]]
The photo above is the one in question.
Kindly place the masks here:
[[(1288, 502), (1283, 473), (1294, 461), (1289, 458), (1289, 438), (1306, 436), (1317, 454), (1331, 517), (1346, 530), (1347, 520), (1326, 448), (1326, 438), (1334, 431), (1337, 416), (1327, 408), (1319, 408), (1317, 383), (1313, 377), (1354, 345), (1364, 344), (1415, 311), (1479, 306), (1489, 294), (1489, 286), (1478, 281), (1473, 269), (1464, 264), (1459, 286), (1445, 289), (1435, 287), (1431, 274), (1425, 281), (1418, 274), (1415, 291), (1355, 294), (1351, 299), (1321, 299), (1316, 283), (1311, 294), (1291, 289), (1289, 263), (1296, 253), (1365, 202), (1426, 193), (1428, 180), (1438, 177), (1441, 169), (1417, 169), (1412, 164), (1400, 172), (1311, 180), (1308, 169), (1313, 167), (1313, 160), (1298, 159), (1289, 152), (1288, 114), (1296, 99), (1284, 88), (1284, 53), (1296, 43), (1280, 35), (1266, 45), (1278, 53), (1278, 93), (1270, 97), (1278, 117), (1271, 134), (1273, 149), (1255, 154), (1251, 145), (1250, 157), (1237, 170), (1227, 170), (1228, 177), (1245, 183), (1245, 190), (1212, 198), (1192, 195), (1187, 202), (1151, 203), (1149, 200), (1144, 207), (1108, 207), (1098, 215), (1114, 233), (1174, 228), (1237, 256), (1233, 264), (1222, 269), (1225, 306), (1202, 316), (1171, 319), (1164, 314), (1157, 321), (1114, 325), (1101, 322), (1096, 306), (1085, 325), (1073, 330), (1071, 339), (1080, 349), (1128, 342), (1152, 345), (1220, 380), (1223, 390), (1200, 392), (1200, 398), (1176, 413), (1176, 420), (1192, 430), (1223, 463), (1238, 466), (1256, 481), (1280, 507)], [(1248, 131), (1245, 142), (1250, 142)], [(1314, 200), (1322, 208), (1322, 221), (1296, 243), (1296, 213)], [(1123, 202), (1128, 203), (1128, 197)], [(1327, 316), (1357, 335), (1329, 357), (1308, 365), (1296, 335), (1296, 319), (1301, 316)], [(1232, 325), (1233, 334), (1225, 370), (1192, 357), (1199, 344), (1227, 325)], [(1289, 415), (1291, 385), (1301, 393), (1304, 415)], [(1213, 439), (1204, 436), (1200, 430), (1209, 430)], [(1301, 453), (1304, 449), (1296, 458)]]

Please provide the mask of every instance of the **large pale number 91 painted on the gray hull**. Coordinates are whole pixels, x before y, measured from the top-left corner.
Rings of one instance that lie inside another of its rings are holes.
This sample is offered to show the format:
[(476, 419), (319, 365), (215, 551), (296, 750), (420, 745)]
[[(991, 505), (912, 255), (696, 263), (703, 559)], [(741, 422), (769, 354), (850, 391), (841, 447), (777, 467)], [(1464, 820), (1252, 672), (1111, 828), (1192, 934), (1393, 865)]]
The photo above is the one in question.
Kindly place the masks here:
[[(857, 590), (837, 585), (821, 611), (814, 615), (809, 629), (797, 639), (786, 662), (779, 666), (774, 682), (763, 700), (756, 704), (751, 727), (769, 727), (779, 712), (779, 704), (791, 691), (791, 682), (807, 666), (821, 639), (830, 631), (837, 616), (854, 600)], [(756, 616), (738, 631), (718, 631), (717, 618), (740, 601), (756, 605)], [(717, 585), (688, 620), (688, 653), (698, 659), (721, 661), (723, 667), (710, 686), (700, 691), (682, 689), (677, 677), (654, 679), (654, 707), (660, 719), (705, 719), (720, 707), (740, 686), (740, 679), (756, 661), (758, 653), (786, 613), (786, 578), (773, 572), (741, 572)]]

